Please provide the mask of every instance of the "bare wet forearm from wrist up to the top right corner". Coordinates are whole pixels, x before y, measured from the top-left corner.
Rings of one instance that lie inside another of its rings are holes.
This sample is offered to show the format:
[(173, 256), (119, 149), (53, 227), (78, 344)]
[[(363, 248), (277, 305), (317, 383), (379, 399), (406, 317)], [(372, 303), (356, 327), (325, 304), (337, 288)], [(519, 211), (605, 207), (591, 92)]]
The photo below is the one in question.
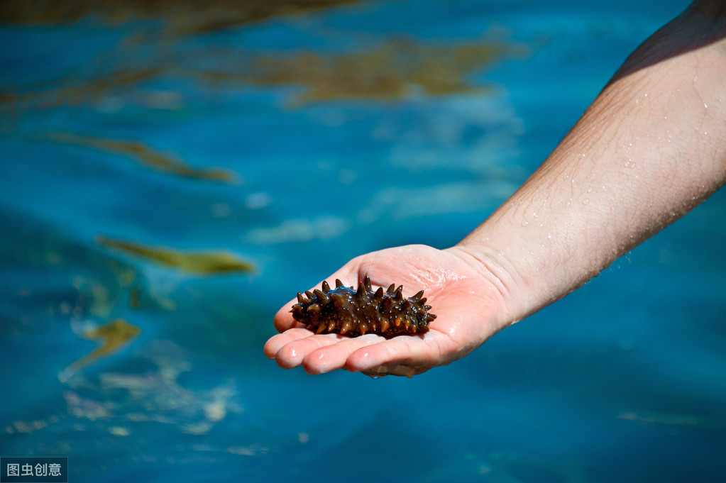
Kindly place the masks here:
[(521, 189), (457, 246), (497, 276), (504, 323), (576, 289), (726, 180), (726, 25), (714, 4), (691, 7), (640, 46)]

